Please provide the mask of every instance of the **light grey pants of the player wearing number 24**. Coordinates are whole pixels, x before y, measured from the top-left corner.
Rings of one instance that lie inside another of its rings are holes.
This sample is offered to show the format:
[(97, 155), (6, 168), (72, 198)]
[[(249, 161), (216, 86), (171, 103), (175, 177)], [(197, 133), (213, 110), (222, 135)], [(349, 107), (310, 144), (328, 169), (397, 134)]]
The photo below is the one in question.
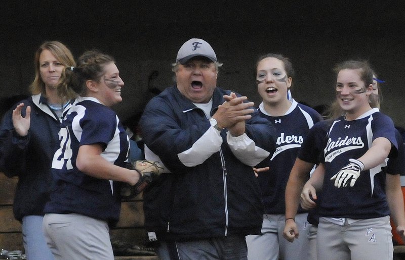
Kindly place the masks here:
[(46, 214), (43, 228), (55, 259), (114, 259), (105, 221), (78, 214)]

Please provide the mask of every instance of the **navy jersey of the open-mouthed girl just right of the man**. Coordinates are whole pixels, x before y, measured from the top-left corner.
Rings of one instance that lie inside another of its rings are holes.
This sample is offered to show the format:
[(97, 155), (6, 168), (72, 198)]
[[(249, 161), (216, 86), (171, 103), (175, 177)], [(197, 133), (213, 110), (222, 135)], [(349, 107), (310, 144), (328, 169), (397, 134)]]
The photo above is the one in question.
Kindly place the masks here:
[(259, 106), (260, 115), (273, 124), (277, 134), (276, 150), (269, 161), (270, 170), (258, 177), (265, 212), (268, 214), (285, 214), (286, 185), (298, 150), (308, 130), (322, 120), (322, 116), (315, 110), (295, 100), (292, 102), (287, 113), (279, 117), (267, 114), (263, 103)]

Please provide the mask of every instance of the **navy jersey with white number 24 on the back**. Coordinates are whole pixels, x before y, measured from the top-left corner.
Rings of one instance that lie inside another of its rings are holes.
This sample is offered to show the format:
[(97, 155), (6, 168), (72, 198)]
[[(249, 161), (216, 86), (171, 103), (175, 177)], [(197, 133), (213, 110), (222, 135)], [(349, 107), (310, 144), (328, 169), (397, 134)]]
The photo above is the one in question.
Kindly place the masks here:
[(129, 139), (116, 114), (96, 98), (80, 97), (65, 115), (59, 132), (60, 146), (52, 162), (54, 188), (46, 213), (76, 213), (114, 225), (119, 218), (119, 182), (98, 179), (76, 167), (81, 145), (101, 144), (101, 156), (124, 167)]

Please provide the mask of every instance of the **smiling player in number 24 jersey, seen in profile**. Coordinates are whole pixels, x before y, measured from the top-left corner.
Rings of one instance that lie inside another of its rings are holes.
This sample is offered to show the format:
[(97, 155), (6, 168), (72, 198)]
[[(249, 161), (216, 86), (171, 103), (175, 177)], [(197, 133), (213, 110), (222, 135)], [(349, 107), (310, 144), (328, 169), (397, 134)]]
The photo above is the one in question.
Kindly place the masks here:
[(123, 86), (114, 59), (99, 51), (87, 51), (62, 74), (59, 93), (73, 89), (79, 96), (61, 124), (45, 206), (43, 228), (55, 259), (114, 259), (109, 227), (119, 218), (120, 182), (140, 179), (125, 168), (129, 139), (110, 109)]

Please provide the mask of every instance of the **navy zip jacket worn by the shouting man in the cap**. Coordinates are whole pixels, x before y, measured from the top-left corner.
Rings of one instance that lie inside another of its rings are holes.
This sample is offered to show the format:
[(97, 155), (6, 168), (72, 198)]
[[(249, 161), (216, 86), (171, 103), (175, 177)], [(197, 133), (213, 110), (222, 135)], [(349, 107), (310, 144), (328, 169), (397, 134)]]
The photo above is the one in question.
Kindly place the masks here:
[[(215, 89), (211, 115), (225, 101), (224, 94), (230, 91)], [(145, 228), (158, 240), (260, 234), (264, 213), (260, 188), (252, 167), (230, 150), (226, 130), (221, 131), (221, 152), (204, 163), (187, 167), (178, 158), (210, 127), (204, 112), (176, 86), (152, 98), (145, 108), (140, 120), (142, 138), (171, 172), (144, 191)], [(246, 134), (271, 157), (275, 129), (256, 110), (246, 123)]]

